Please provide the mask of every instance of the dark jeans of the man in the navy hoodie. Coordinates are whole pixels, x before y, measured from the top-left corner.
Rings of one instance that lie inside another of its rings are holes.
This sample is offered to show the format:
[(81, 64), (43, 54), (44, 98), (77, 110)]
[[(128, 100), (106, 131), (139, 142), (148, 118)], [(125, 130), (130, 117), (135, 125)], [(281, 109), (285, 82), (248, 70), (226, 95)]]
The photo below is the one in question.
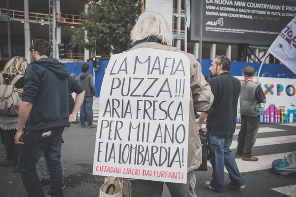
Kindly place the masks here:
[[(42, 133), (51, 131), (47, 137), (41, 137)], [(63, 128), (47, 129), (43, 131), (27, 131), (23, 137), (24, 145), (19, 152), (18, 169), (29, 197), (45, 197), (36, 164), (45, 154), (50, 171), (51, 197), (64, 197), (63, 174), (61, 159)]]

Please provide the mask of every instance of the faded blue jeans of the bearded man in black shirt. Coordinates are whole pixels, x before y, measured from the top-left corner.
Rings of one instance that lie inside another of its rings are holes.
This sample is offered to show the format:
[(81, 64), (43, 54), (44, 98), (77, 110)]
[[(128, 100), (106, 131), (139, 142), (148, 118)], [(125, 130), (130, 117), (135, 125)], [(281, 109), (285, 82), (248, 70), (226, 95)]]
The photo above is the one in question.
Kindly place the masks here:
[(218, 192), (224, 191), (224, 166), (229, 173), (229, 178), (233, 185), (244, 185), (243, 177), (229, 149), (232, 143), (233, 132), (228, 136), (212, 135), (209, 129), (208, 132), (210, 162), (213, 166), (211, 186)]

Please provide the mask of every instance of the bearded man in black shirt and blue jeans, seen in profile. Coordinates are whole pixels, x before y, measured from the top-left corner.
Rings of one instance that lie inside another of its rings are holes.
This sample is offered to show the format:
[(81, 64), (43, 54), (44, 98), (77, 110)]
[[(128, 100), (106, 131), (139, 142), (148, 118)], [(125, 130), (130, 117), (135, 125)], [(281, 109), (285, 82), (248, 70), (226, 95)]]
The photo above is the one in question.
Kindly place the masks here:
[(212, 180), (202, 181), (206, 189), (216, 192), (224, 191), (224, 166), (231, 182), (229, 186), (236, 189), (245, 187), (234, 156), (229, 150), (236, 127), (237, 102), (241, 89), (240, 81), (229, 74), (230, 60), (225, 56), (217, 56), (209, 70), (213, 79), (209, 82), (214, 102), (210, 110), (200, 114), (197, 128), (207, 116), (207, 132), (209, 133), (210, 162), (213, 166)]

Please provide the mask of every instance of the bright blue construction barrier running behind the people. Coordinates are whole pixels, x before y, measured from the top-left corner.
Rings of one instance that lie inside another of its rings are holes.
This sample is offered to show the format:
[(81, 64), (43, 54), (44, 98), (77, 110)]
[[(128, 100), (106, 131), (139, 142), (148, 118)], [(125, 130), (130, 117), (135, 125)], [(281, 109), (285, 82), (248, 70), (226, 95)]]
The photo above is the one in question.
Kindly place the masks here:
[[(89, 64), (89, 73), (93, 75), (92, 62), (87, 62)], [(108, 65), (109, 61), (100, 61), (100, 67), (95, 71), (95, 85), (96, 85), (96, 97), (100, 97), (102, 82), (105, 74), (105, 67)], [(211, 66), (212, 60), (202, 60), (202, 73), (204, 76), (210, 76), (209, 67)], [(81, 65), (83, 63), (65, 63), (70, 73), (74, 73), (77, 77), (81, 73)], [(242, 76), (243, 69), (246, 66), (254, 67), (256, 74), (258, 74), (260, 63), (247, 63), (247, 62), (232, 62), (230, 68), (230, 74), (234, 76)], [(260, 76), (262, 77), (274, 77), (274, 78), (290, 78), (296, 79), (296, 74), (294, 74), (285, 65), (276, 64), (264, 64), (261, 69)], [(104, 93), (102, 93), (104, 94)]]

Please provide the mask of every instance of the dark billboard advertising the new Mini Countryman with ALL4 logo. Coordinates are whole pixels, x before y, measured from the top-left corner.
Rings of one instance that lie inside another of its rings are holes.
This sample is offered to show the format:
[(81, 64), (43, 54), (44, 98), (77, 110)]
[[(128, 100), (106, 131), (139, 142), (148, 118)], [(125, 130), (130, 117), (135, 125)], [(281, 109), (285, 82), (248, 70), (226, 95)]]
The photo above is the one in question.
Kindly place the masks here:
[[(200, 1), (191, 1), (191, 41), (199, 40)], [(270, 45), (294, 17), (292, 0), (204, 0), (203, 40)]]

